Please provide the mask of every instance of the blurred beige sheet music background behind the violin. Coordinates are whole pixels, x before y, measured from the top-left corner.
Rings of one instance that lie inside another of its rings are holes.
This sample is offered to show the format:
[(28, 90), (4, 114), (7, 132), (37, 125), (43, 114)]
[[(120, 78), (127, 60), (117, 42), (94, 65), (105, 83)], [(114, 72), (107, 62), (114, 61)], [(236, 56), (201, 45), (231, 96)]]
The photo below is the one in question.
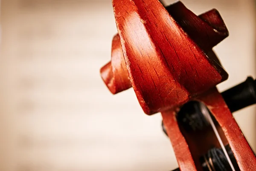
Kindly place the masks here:
[[(174, 2), (169, 0), (167, 4)], [(217, 8), (230, 36), (215, 51), (220, 90), (256, 76), (253, 0), (183, 0)], [(177, 167), (160, 115), (99, 76), (116, 33), (111, 0), (2, 0), (0, 171), (168, 171)], [(253, 107), (235, 114), (256, 149)]]

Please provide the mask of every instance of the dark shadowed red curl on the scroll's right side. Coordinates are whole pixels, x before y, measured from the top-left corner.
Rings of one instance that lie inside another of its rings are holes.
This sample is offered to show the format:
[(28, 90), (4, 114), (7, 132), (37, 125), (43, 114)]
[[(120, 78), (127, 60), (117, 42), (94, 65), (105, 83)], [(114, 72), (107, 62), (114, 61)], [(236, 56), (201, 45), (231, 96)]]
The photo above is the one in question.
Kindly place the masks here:
[(199, 16), (196, 16), (181, 2), (172, 4), (166, 9), (204, 52), (212, 50), (212, 47), (228, 36), (226, 25), (216, 9)]

